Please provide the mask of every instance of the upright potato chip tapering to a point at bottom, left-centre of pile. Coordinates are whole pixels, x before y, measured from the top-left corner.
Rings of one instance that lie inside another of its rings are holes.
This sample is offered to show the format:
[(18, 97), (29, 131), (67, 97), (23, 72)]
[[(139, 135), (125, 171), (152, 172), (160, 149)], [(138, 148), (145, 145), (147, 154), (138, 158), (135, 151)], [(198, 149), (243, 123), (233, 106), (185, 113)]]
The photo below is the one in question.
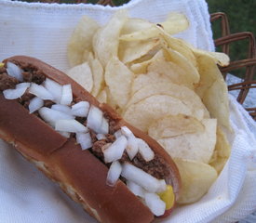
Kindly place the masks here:
[(109, 59), (105, 69), (105, 82), (119, 108), (125, 107), (130, 96), (133, 73), (119, 59)]

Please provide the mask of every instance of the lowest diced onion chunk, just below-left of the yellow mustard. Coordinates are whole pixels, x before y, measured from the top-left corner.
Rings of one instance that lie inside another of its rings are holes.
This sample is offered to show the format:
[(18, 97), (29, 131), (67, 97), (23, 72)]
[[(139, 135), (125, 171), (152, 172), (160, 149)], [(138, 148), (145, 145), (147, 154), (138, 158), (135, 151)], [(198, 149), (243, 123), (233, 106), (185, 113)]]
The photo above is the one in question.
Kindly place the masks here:
[(155, 216), (162, 216), (166, 211), (166, 203), (155, 193), (145, 193), (145, 203)]

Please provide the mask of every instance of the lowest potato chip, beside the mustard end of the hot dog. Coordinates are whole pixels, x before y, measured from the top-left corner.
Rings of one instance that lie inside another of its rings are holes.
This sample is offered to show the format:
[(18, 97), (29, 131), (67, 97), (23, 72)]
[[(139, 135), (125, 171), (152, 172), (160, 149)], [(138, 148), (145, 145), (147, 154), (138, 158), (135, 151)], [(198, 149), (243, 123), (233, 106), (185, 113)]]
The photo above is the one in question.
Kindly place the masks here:
[(205, 195), (218, 177), (209, 164), (183, 159), (173, 159), (182, 178), (182, 194), (178, 203), (195, 203)]

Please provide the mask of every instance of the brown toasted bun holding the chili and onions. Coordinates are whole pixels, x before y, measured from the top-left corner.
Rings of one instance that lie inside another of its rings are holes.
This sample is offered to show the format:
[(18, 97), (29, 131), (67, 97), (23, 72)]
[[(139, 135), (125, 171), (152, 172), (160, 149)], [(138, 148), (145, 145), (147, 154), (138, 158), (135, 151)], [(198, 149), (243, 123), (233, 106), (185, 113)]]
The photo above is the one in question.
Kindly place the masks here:
[[(48, 78), (61, 85), (71, 84), (75, 98), (87, 100), (106, 112), (116, 125), (126, 125), (133, 134), (145, 140), (155, 153), (167, 162), (170, 168), (168, 181), (176, 197), (181, 188), (181, 179), (176, 165), (168, 153), (135, 127), (128, 125), (112, 108), (100, 104), (81, 85), (63, 72), (46, 63), (25, 56), (4, 60), (23, 67), (32, 65)], [(118, 180), (115, 186), (106, 184), (108, 168), (89, 151), (82, 151), (73, 138), (64, 138), (34, 114), (30, 114), (16, 100), (7, 100), (0, 93), (0, 138), (14, 145), (29, 161), (36, 164), (47, 177), (57, 181), (61, 189), (100, 222), (151, 222), (154, 215), (149, 208)], [(47, 138), (47, 140), (46, 140)], [(92, 171), (93, 170), (93, 171)]]

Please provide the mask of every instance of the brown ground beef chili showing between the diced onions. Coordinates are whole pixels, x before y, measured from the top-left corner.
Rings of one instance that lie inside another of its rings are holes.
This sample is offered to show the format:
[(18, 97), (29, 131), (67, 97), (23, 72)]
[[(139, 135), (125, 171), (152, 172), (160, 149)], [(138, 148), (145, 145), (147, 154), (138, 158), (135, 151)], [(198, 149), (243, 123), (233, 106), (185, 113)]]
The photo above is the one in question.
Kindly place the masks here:
[[(34, 82), (38, 85), (41, 85), (46, 80), (45, 74), (41, 71), (38, 71), (32, 65), (20, 66), (20, 68), (24, 71), (22, 72), (24, 82)], [(10, 88), (15, 88), (15, 85), (17, 84), (19, 84), (19, 81), (14, 77), (8, 76), (7, 69), (5, 67), (0, 68), (0, 90), (1, 91), (10, 89)], [(20, 102), (21, 105), (23, 105), (26, 109), (28, 109), (28, 105), (32, 98), (34, 98), (34, 95), (30, 94), (27, 91), (21, 98), (17, 100)], [(74, 101), (72, 102), (72, 104), (77, 103), (79, 101), (80, 101), (79, 98), (74, 98)], [(54, 104), (53, 101), (45, 100), (45, 106), (50, 107), (52, 104)], [(38, 112), (34, 112), (34, 115), (39, 116)], [(93, 146), (91, 149), (89, 149), (89, 151), (91, 151), (99, 160), (101, 160), (102, 163), (104, 163), (104, 157), (101, 149), (106, 144), (113, 143), (115, 141), (114, 134), (119, 129), (119, 126), (116, 125), (115, 120), (112, 120), (110, 117), (108, 117), (107, 113), (105, 112), (104, 112), (104, 117), (107, 118), (108, 120), (110, 134), (105, 135), (104, 139), (98, 140), (96, 138), (96, 134), (93, 131), (90, 131), (90, 136), (92, 138)], [(76, 117), (76, 120), (83, 125), (87, 124), (86, 118)], [(70, 137), (74, 138), (75, 135), (71, 134)], [(146, 162), (142, 158), (141, 154), (138, 152), (137, 155), (131, 161), (128, 158), (128, 153), (125, 151), (123, 153), (122, 158), (119, 161), (121, 163), (128, 162), (130, 164), (133, 164), (141, 168), (146, 173), (158, 179), (166, 178), (170, 174), (168, 170), (168, 164), (166, 164), (165, 160), (159, 157), (157, 154), (155, 154), (155, 157), (153, 160)], [(110, 164), (106, 164), (106, 165), (109, 166)], [(121, 179), (123, 180), (122, 177)]]

